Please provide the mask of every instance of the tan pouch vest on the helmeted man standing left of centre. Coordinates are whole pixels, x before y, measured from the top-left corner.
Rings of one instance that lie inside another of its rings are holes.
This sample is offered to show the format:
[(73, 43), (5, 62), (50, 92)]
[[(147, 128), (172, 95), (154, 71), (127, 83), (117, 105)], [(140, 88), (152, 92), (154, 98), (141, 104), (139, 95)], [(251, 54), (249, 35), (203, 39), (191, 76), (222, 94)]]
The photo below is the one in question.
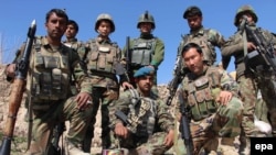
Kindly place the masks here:
[(89, 52), (86, 55), (87, 70), (91, 73), (116, 74), (115, 65), (118, 62), (118, 45), (99, 44), (95, 40), (88, 43)]

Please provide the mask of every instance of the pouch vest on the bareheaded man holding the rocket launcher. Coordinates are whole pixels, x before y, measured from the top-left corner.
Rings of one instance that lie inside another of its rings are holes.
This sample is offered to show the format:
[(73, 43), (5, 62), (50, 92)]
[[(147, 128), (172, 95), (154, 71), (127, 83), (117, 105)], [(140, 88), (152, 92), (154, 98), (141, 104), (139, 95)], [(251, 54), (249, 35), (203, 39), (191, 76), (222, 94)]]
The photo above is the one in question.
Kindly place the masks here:
[(71, 80), (70, 48), (62, 45), (60, 51), (49, 52), (42, 46), (40, 37), (36, 37), (33, 47), (30, 63), (33, 68), (30, 77), (33, 101), (66, 99)]

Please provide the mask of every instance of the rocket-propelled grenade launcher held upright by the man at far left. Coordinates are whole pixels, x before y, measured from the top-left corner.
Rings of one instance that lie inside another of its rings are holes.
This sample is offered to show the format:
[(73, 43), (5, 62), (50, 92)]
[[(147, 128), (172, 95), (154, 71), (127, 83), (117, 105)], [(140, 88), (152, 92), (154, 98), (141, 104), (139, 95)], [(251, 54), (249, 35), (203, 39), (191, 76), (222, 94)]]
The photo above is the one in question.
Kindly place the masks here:
[(25, 78), (30, 64), (30, 55), (32, 51), (33, 41), (35, 37), (36, 24), (35, 20), (32, 21), (28, 31), (28, 37), (22, 58), (17, 63), (15, 77), (13, 87), (9, 99), (9, 115), (4, 126), (4, 137), (0, 147), (0, 155), (10, 155), (11, 140), (13, 137), (14, 125), (17, 121), (18, 111), (22, 101), (23, 92), (25, 89)]

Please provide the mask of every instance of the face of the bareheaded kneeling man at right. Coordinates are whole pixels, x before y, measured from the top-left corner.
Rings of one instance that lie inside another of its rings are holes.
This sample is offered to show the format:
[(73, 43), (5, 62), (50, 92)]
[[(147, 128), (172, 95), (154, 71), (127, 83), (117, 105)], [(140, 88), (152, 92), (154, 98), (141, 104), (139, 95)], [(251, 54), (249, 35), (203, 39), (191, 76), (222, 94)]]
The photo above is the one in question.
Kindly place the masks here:
[(185, 66), (195, 75), (203, 71), (203, 54), (199, 53), (197, 48), (191, 47), (182, 55)]

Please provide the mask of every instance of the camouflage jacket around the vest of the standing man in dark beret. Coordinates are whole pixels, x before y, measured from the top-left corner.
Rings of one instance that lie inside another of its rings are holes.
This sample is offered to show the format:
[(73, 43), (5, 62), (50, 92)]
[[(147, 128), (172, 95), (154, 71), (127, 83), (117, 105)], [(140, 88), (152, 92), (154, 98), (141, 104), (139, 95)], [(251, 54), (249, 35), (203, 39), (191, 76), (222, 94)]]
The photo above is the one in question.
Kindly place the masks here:
[[(213, 63), (216, 60), (216, 53), (215, 53), (215, 46), (221, 48), (222, 45), (225, 43), (224, 36), (217, 32), (216, 30), (213, 29), (204, 29), (203, 26), (197, 31), (190, 31), (189, 34), (185, 34), (182, 36), (182, 41), (180, 42), (180, 45), (178, 47), (178, 55), (181, 55), (181, 52), (183, 49), (183, 46), (189, 43), (189, 42), (193, 42), (193, 41), (200, 41), (201, 40), (208, 40), (206, 42), (206, 48), (209, 48), (208, 51), (211, 51), (212, 54), (212, 59), (210, 60)], [(197, 42), (195, 42), (197, 43)], [(203, 43), (202, 43), (203, 44)], [(204, 46), (202, 46), (204, 47)], [(209, 60), (208, 60), (209, 62)], [(222, 58), (222, 62), (230, 62), (230, 59), (225, 59), (224, 57)]]

